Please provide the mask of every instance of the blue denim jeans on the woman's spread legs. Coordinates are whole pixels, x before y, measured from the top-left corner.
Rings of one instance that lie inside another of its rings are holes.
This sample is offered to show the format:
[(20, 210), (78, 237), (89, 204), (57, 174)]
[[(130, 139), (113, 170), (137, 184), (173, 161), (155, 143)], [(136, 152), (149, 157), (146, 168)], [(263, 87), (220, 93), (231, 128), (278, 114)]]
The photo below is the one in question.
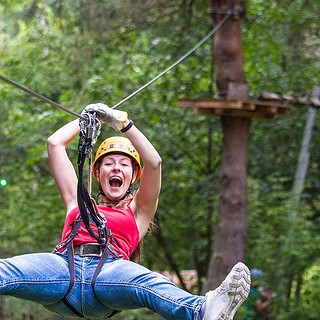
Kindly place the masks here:
[[(75, 255), (75, 283), (68, 302), (83, 316), (103, 319), (114, 310), (149, 308), (164, 319), (198, 320), (204, 296), (181, 290), (165, 276), (122, 259), (108, 258), (95, 281), (100, 258)], [(0, 294), (31, 300), (67, 317), (61, 299), (70, 275), (66, 254), (34, 253), (0, 259)]]

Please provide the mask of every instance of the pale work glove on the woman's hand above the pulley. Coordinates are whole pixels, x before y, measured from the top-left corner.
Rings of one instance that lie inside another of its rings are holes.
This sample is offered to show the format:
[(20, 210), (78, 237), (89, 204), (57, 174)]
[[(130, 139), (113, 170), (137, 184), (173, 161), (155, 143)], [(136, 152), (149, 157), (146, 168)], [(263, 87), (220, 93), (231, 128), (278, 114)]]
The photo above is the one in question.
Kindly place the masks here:
[(111, 109), (103, 103), (89, 104), (81, 114), (85, 112), (96, 112), (98, 119), (102, 123), (107, 123), (118, 132), (124, 127), (124, 122), (128, 119), (127, 112)]

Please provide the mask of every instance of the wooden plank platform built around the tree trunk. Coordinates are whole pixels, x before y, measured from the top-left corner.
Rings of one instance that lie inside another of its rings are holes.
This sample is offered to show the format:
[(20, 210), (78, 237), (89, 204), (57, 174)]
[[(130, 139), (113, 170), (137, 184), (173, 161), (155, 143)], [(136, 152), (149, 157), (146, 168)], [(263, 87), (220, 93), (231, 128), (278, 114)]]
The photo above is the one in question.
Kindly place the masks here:
[(196, 114), (231, 116), (242, 118), (273, 118), (277, 114), (288, 114), (289, 104), (274, 101), (235, 101), (210, 99), (181, 99), (179, 106), (192, 108)]

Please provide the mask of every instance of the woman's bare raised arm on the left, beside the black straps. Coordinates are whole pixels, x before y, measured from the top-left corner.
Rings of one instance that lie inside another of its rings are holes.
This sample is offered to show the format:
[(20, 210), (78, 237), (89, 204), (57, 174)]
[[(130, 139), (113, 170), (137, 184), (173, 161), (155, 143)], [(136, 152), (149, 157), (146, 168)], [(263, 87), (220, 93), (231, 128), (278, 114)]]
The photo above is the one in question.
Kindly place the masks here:
[(79, 119), (76, 119), (58, 129), (48, 138), (47, 143), (52, 174), (67, 213), (77, 206), (78, 182), (73, 164), (67, 155), (67, 147), (79, 132)]

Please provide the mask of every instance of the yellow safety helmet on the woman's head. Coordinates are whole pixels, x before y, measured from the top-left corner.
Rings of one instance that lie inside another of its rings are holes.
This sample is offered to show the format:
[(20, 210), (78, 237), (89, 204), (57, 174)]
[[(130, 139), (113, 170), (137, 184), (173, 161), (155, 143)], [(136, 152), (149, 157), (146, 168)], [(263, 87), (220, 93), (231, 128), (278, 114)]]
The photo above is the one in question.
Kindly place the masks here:
[(142, 172), (142, 165), (141, 165), (139, 153), (134, 148), (134, 146), (132, 145), (129, 139), (125, 137), (118, 137), (118, 136), (110, 137), (104, 140), (100, 144), (92, 165), (92, 173), (93, 173), (93, 176), (96, 178), (96, 180), (98, 180), (98, 177), (97, 177), (98, 160), (102, 156), (109, 153), (123, 153), (131, 157), (132, 160), (134, 160), (136, 167), (138, 167), (138, 169), (136, 170), (136, 173), (137, 173), (136, 179), (133, 182), (133, 184), (135, 184), (140, 179), (141, 172)]

